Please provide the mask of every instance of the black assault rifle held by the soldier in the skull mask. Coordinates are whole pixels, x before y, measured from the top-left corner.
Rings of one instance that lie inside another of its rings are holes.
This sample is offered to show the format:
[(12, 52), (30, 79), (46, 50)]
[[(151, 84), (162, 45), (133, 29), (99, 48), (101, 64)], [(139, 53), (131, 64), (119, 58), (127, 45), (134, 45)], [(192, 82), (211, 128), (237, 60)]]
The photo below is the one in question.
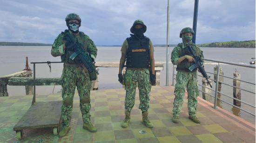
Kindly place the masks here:
[(69, 58), (72, 60), (78, 58), (78, 61), (81, 62), (81, 64), (83, 64), (87, 68), (89, 73), (95, 71), (97, 74), (99, 74), (94, 67), (94, 61), (88, 55), (88, 52), (82, 48), (82, 44), (79, 42), (75, 42), (74, 37), (68, 32), (68, 30), (65, 30), (64, 34), (65, 36), (63, 39), (71, 41), (72, 43), (68, 45), (66, 48), (74, 49), (74, 53)]

